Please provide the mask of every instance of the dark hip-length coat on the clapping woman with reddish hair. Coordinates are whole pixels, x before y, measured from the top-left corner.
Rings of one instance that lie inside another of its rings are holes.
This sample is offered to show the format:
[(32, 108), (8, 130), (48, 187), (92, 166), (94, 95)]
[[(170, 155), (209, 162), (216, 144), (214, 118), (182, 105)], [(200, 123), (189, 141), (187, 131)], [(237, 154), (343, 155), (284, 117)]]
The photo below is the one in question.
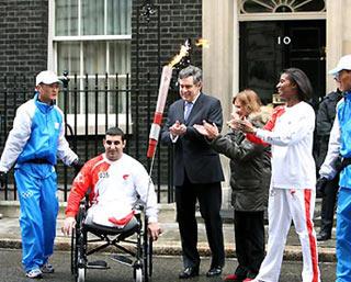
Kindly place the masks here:
[[(251, 121), (256, 126), (262, 123)], [(230, 158), (231, 203), (236, 211), (263, 211), (271, 180), (270, 147), (249, 142), (240, 131), (217, 136), (212, 147)]]

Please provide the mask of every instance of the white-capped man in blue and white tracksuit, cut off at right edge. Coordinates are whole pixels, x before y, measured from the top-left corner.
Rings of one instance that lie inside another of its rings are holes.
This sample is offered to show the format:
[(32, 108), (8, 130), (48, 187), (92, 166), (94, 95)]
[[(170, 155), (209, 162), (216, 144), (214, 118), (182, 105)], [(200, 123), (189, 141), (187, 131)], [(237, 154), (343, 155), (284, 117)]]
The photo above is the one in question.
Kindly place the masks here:
[(317, 185), (322, 185), (326, 179), (330, 180), (337, 174), (336, 160), (340, 155), (343, 161), (339, 168), (337, 205), (337, 282), (351, 282), (351, 55), (341, 57), (338, 66), (329, 74), (340, 83), (344, 98), (337, 104), (328, 154), (319, 170)]

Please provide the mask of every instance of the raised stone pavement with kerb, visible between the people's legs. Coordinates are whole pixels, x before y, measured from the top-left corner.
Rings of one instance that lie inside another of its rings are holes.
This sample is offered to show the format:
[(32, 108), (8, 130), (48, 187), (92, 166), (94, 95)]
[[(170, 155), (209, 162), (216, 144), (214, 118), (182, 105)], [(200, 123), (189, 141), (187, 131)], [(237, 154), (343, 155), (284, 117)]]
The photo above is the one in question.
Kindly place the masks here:
[[(318, 199), (317, 199), (318, 200)], [(319, 203), (320, 205), (320, 203)], [(156, 255), (181, 255), (181, 244), (178, 232), (178, 224), (176, 222), (176, 206), (174, 204), (159, 204), (159, 223), (163, 230), (159, 239), (154, 244), (154, 253)], [(60, 212), (57, 219), (57, 237), (55, 240), (55, 248), (57, 250), (70, 250), (70, 237), (66, 237), (61, 234), (60, 227), (64, 222), (65, 204), (60, 205)], [(318, 215), (318, 202), (316, 205), (315, 226), (316, 232), (319, 230), (319, 215)], [(18, 201), (0, 201), (0, 248), (21, 248), (21, 235), (19, 225), (19, 202)], [(235, 244), (234, 244), (234, 225), (233, 225), (233, 211), (223, 211), (224, 217), (224, 238), (226, 257), (234, 258)], [(206, 240), (205, 227), (199, 218), (199, 250), (201, 256), (211, 256), (208, 244)], [(265, 226), (265, 235), (268, 226)], [(268, 236), (265, 236), (268, 237)], [(321, 262), (335, 262), (336, 261), (336, 248), (335, 248), (335, 228), (332, 237), (327, 241), (318, 241), (319, 261)], [(301, 261), (302, 251), (298, 241), (298, 237), (295, 233), (294, 226), (291, 227), (285, 252), (284, 260)]]

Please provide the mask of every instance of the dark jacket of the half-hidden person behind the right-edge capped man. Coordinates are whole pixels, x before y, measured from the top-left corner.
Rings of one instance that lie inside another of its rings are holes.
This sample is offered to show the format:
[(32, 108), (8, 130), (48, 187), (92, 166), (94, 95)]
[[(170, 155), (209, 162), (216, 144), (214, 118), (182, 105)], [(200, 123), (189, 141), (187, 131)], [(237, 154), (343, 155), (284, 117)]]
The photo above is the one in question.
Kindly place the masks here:
[(340, 91), (332, 91), (319, 103), (316, 115), (316, 140), (314, 148), (317, 171), (322, 165), (328, 151), (329, 136), (336, 117), (337, 103), (341, 98), (342, 93)]

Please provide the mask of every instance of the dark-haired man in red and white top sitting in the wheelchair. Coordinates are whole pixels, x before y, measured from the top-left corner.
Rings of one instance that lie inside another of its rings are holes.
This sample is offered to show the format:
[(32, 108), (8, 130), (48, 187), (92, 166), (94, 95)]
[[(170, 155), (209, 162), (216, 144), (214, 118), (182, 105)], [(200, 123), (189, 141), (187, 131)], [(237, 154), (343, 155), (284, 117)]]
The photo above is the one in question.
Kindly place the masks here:
[[(144, 234), (148, 233), (149, 239), (157, 240), (161, 230), (157, 218), (158, 208), (154, 184), (144, 166), (123, 153), (125, 143), (122, 129), (109, 128), (103, 139), (105, 151), (87, 161), (75, 178), (67, 202), (66, 219), (61, 228), (65, 235), (73, 233), (75, 228), (81, 228), (79, 226), (81, 200), (89, 191), (89, 204), (86, 208), (88, 212), (81, 223), (83, 226), (93, 226), (93, 228), (88, 228), (89, 232), (92, 229), (92, 233), (97, 235), (94, 232), (99, 227), (105, 234), (114, 234), (113, 230), (118, 234), (118, 230), (131, 229), (129, 226), (136, 223), (137, 217), (134, 216), (134, 207), (136, 203), (141, 203), (145, 206), (147, 222), (145, 223), (147, 232)], [(76, 236), (80, 236), (77, 230)], [(82, 266), (81, 268), (87, 269), (88, 267)], [(78, 279), (78, 281), (83, 280)]]

